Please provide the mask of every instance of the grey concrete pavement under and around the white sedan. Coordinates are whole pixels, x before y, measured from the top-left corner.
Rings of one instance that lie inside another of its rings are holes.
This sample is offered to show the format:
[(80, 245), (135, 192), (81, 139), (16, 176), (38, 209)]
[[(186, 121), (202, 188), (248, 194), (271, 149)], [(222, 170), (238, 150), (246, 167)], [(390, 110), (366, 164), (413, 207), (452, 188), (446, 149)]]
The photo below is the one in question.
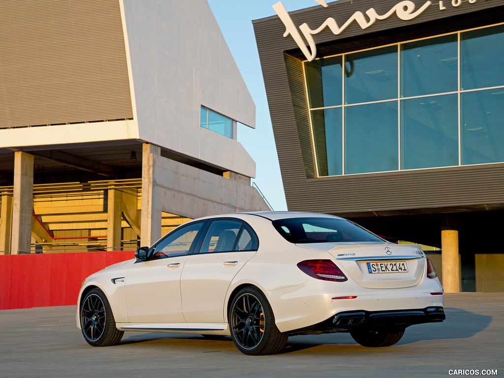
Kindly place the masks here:
[(117, 346), (93, 348), (75, 306), (2, 310), (0, 377), (504, 376), (504, 293), (447, 294), (445, 310), (445, 322), (412, 326), (391, 347), (365, 348), (348, 334), (295, 336), (281, 354), (260, 357), (230, 338), (165, 333), (125, 333)]

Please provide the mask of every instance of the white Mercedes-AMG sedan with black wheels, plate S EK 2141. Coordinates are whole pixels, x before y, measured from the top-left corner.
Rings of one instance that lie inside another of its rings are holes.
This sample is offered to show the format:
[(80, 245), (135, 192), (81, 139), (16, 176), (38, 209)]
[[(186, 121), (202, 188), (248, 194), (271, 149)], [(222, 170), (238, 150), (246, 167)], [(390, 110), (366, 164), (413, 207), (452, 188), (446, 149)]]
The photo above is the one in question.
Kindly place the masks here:
[(443, 301), (419, 245), (325, 214), (240, 213), (185, 223), (86, 278), (77, 325), (93, 346), (124, 331), (177, 332), (231, 336), (263, 355), (303, 334), (393, 345), (409, 326), (442, 322)]

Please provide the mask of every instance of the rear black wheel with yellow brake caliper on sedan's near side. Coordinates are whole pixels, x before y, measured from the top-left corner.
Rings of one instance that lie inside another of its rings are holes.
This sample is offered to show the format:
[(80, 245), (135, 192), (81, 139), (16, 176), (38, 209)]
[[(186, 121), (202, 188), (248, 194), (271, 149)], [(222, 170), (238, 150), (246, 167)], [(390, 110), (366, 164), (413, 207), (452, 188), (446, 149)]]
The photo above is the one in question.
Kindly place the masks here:
[(278, 330), (268, 300), (255, 287), (238, 291), (231, 302), (228, 320), (234, 345), (244, 354), (275, 354), (287, 343), (288, 335)]

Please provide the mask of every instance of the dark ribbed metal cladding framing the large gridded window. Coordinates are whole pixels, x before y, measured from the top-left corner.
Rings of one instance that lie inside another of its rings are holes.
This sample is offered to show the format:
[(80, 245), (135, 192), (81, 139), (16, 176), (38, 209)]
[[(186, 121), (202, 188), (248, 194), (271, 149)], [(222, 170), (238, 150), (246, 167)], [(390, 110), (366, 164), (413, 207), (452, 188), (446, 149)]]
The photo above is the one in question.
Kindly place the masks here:
[[(290, 17), (298, 28), (307, 23), (314, 30), (329, 17), (341, 26), (357, 11), (365, 14), (374, 8), (384, 15), (399, 3), (341, 0), (328, 8), (295, 11)], [(413, 3), (418, 9), (426, 2)], [(314, 35), (317, 57), (503, 21), (504, 0), (463, 0), (454, 5), (435, 1), (412, 20), (392, 14), (365, 30), (354, 21), (339, 35), (326, 28)], [(253, 23), (289, 210), (363, 217), (504, 209), (504, 163), (316, 178), (301, 65), (306, 57), (292, 36), (283, 37), (285, 26), (278, 16)]]

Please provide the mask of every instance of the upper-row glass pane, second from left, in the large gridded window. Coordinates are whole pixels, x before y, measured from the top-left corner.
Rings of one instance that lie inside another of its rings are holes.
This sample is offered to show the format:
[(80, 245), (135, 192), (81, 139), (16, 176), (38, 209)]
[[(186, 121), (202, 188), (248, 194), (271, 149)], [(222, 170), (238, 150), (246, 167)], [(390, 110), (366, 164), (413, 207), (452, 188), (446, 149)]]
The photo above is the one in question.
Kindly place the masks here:
[(345, 103), (397, 98), (397, 57), (397, 46), (347, 55)]

